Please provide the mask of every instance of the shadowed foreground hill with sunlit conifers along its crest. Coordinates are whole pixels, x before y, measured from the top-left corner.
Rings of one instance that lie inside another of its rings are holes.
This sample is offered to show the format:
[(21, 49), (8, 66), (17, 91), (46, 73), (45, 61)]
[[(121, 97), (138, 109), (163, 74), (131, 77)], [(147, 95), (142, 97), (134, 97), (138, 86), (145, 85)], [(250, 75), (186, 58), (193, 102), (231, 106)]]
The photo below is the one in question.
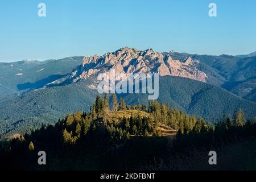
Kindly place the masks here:
[[(0, 142), (0, 168), (255, 169), (255, 119), (246, 122), (242, 110), (209, 125), (157, 101), (146, 107), (139, 103), (127, 106), (115, 94), (109, 100), (109, 94), (97, 96), (90, 112), (75, 111), (55, 126), (43, 125), (31, 134)], [(175, 130), (176, 137), (163, 137), (161, 127)], [(218, 165), (208, 164), (211, 150), (218, 154)], [(38, 151), (46, 152), (47, 165), (38, 165)]]

